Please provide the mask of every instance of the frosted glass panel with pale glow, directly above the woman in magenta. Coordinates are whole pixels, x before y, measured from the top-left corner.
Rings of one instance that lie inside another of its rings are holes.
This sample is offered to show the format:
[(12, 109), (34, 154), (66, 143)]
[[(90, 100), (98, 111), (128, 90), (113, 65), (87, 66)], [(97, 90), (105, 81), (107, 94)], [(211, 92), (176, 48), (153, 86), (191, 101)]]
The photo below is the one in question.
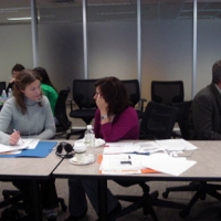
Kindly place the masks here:
[(88, 1), (88, 77), (137, 78), (136, 1)]

